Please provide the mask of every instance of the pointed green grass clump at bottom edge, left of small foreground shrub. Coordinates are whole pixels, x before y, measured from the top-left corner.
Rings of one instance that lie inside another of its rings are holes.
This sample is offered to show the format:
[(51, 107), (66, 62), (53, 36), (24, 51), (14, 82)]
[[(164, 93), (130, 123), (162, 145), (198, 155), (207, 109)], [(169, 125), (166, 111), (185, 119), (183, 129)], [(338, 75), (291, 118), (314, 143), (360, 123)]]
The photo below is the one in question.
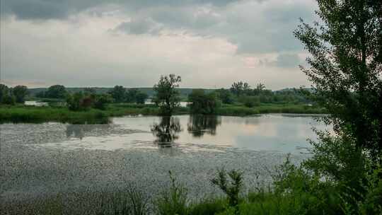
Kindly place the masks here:
[(156, 212), (158, 215), (187, 214), (187, 189), (176, 181), (171, 171), (169, 173), (171, 185), (154, 202)]

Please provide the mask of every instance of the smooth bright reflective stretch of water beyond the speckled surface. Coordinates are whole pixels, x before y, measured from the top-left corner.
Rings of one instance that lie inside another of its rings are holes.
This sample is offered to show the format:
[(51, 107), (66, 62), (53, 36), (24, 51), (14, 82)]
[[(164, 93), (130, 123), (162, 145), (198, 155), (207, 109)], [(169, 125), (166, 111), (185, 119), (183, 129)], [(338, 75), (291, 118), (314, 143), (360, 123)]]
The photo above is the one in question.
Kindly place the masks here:
[[(313, 117), (301, 115), (116, 117), (112, 119), (112, 124), (134, 132), (86, 136), (87, 130), (91, 130), (94, 126), (71, 125), (66, 129), (67, 134), (77, 138), (68, 139), (59, 143), (59, 146), (116, 150), (132, 147), (155, 148), (159, 143), (161, 146), (188, 146), (188, 148), (216, 146), (254, 151), (306, 153), (306, 149), (310, 147), (307, 139), (316, 139), (312, 127), (327, 128), (316, 122)], [(170, 145), (163, 144), (165, 142)]]

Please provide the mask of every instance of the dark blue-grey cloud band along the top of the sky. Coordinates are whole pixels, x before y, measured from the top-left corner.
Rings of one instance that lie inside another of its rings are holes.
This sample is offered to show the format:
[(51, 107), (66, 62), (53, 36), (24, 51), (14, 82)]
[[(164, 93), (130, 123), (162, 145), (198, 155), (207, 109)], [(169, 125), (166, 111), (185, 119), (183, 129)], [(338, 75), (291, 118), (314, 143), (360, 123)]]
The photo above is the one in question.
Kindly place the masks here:
[(222, 37), (237, 45), (238, 54), (301, 50), (292, 31), (299, 17), (310, 21), (313, 11), (311, 1), (291, 4), (272, 0), (5, 0), (1, 1), (1, 13), (19, 19), (62, 19), (106, 4), (115, 4), (118, 11), (130, 18), (114, 30), (135, 35), (183, 30)]

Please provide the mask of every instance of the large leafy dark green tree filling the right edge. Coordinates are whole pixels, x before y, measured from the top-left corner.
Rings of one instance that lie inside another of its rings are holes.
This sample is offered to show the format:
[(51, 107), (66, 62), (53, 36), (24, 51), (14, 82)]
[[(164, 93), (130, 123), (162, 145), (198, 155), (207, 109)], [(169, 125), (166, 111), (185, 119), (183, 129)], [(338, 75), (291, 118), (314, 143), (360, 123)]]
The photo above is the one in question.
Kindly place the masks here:
[(310, 53), (301, 66), (327, 108), (325, 122), (376, 158), (382, 152), (382, 1), (317, 0), (322, 22), (294, 31)]

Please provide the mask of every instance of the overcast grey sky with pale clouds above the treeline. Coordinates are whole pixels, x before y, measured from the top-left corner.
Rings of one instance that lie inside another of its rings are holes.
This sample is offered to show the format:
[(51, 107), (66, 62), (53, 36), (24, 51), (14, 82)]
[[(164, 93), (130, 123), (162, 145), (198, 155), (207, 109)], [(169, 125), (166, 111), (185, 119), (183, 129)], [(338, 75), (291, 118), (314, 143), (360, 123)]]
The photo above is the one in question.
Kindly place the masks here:
[(183, 87), (245, 80), (308, 86), (292, 34), (313, 0), (2, 0), (1, 82), (13, 86)]

